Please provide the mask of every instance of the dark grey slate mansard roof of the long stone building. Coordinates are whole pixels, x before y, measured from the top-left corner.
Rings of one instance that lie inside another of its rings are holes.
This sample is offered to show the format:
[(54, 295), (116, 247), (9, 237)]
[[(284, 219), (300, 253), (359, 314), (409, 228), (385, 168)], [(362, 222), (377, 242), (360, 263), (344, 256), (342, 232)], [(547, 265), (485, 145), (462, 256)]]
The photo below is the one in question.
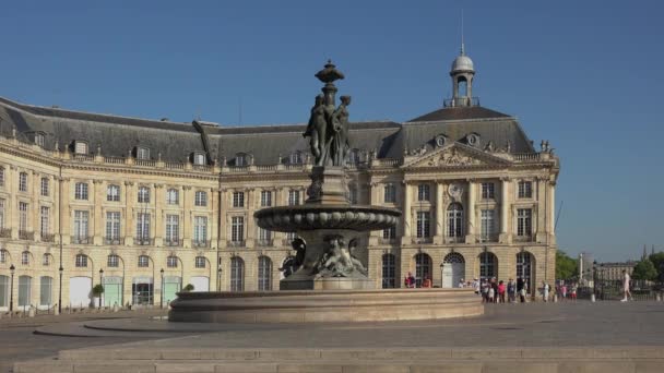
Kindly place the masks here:
[[(193, 153), (209, 159), (230, 160), (248, 153), (256, 165), (274, 165), (278, 156), (308, 153), (301, 133), (305, 124), (226, 127), (208, 122), (177, 123), (168, 120), (137, 119), (45, 108), (14, 103), (0, 97), (0, 134), (16, 129), (19, 140), (32, 143), (34, 133), (45, 134), (45, 148), (73, 149), (75, 141), (88, 143), (90, 152), (102, 148), (104, 156), (124, 157), (137, 146), (151, 149), (165, 161), (187, 161)], [(404, 153), (435, 146), (437, 135), (463, 142), (470, 133), (479, 137), (474, 146), (484, 148), (490, 141), (496, 148), (509, 142), (512, 153), (534, 152), (515, 118), (482, 108), (446, 108), (405, 123), (393, 121), (354, 122), (349, 125), (351, 147), (376, 151), (378, 158), (401, 158)]]

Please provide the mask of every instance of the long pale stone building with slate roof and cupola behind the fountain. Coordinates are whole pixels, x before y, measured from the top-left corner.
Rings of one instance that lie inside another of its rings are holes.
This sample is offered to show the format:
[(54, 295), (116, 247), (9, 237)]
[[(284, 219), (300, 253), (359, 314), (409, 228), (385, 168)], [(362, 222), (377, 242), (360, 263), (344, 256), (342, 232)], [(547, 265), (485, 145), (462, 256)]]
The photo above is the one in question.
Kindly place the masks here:
[[(555, 276), (559, 160), (517, 119), (478, 105), (465, 53), (454, 96), (407, 122), (351, 124), (349, 198), (404, 212), (359, 250), (377, 287), (412, 272), (461, 279)], [(257, 227), (300, 204), (304, 124), (227, 127), (86, 113), (0, 98), (0, 310), (165, 304), (201, 290), (275, 290), (294, 255)], [(12, 269), (13, 268), (13, 269)], [(13, 286), (12, 286), (13, 285)]]

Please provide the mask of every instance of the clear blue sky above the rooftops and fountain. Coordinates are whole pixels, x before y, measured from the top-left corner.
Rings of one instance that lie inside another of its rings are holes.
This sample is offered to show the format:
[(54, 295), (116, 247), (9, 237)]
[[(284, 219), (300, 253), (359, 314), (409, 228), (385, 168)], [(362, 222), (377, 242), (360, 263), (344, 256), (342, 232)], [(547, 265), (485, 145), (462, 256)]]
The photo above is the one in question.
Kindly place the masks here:
[(304, 122), (331, 58), (353, 120), (405, 121), (450, 96), (462, 8), (474, 94), (561, 158), (559, 246), (604, 261), (664, 250), (661, 1), (11, 1), (0, 96)]

